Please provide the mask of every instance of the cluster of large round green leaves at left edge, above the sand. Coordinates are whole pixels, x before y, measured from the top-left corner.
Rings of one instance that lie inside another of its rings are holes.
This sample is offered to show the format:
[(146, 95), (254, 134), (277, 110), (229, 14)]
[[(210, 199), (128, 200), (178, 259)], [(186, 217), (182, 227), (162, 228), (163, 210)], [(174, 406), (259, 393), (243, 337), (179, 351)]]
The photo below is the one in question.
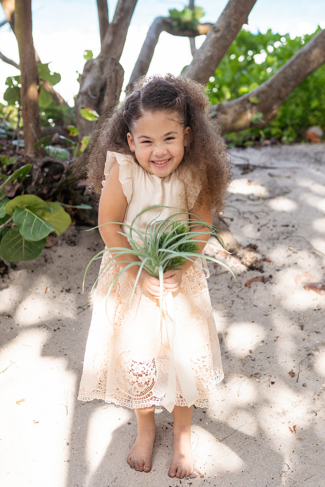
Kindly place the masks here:
[[(15, 171), (0, 186), (1, 193), (19, 176), (23, 180), (30, 168), (28, 165)], [(4, 195), (0, 200), (0, 256), (8, 262), (36, 259), (49, 233), (59, 235), (70, 224), (70, 215), (58, 203), (47, 203), (32, 194), (12, 200)]]

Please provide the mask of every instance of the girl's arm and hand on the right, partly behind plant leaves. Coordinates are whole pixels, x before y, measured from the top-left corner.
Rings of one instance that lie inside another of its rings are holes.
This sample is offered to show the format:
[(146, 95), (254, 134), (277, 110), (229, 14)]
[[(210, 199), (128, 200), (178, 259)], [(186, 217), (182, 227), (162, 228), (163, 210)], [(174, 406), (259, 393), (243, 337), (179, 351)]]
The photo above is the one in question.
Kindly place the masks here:
[[(198, 206), (195, 204), (193, 206), (193, 209), (191, 210), (191, 213), (195, 215), (195, 217), (198, 217), (197, 219), (203, 220), (203, 222), (208, 223), (209, 225), (212, 225), (212, 208), (210, 204), (207, 204), (205, 202), (202, 203), (201, 206)], [(194, 216), (190, 217), (191, 220), (195, 220)], [(191, 232), (206, 232), (207, 228), (204, 225), (200, 226), (194, 226), (191, 228)], [(196, 245), (200, 248), (200, 252), (203, 251), (204, 247), (206, 246), (208, 240), (210, 238), (209, 234), (201, 234), (197, 235), (195, 237), (195, 240), (201, 240), (201, 242), (195, 242)], [(183, 272), (186, 272), (191, 265), (193, 265), (193, 262), (187, 261), (185, 265), (182, 265), (179, 270), (173, 270), (169, 269), (164, 273), (164, 286), (166, 290), (171, 291), (172, 293), (178, 291), (179, 286), (182, 282), (182, 274)]]

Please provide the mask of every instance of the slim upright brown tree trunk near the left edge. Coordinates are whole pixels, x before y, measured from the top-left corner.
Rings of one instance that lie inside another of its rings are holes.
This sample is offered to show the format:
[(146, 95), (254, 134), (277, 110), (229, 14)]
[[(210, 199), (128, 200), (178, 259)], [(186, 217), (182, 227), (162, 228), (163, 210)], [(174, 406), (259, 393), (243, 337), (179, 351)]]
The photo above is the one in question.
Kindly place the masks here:
[(20, 59), (20, 98), (25, 156), (34, 157), (37, 153), (34, 144), (39, 138), (39, 108), (31, 0), (16, 0), (15, 34)]

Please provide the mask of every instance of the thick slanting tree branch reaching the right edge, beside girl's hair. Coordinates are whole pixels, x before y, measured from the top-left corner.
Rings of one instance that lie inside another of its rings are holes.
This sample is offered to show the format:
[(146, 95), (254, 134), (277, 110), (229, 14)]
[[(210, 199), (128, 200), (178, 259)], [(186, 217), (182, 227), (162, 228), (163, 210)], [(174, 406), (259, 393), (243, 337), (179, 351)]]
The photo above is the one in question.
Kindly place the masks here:
[[(253, 125), (264, 126), (276, 118), (287, 96), (324, 63), (325, 29), (290, 57), (273, 76), (250, 93), (214, 105), (212, 115), (219, 120), (222, 130), (226, 133), (248, 129)], [(253, 98), (257, 98), (258, 103), (254, 103)], [(253, 124), (251, 121), (257, 112), (263, 114), (261, 124)]]

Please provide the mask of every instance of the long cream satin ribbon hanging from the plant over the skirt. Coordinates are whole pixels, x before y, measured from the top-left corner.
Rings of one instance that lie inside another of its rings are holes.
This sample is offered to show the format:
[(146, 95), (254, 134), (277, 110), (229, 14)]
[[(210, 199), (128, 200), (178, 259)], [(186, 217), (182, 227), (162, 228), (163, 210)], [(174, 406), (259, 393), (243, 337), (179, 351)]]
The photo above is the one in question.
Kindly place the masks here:
[(168, 385), (162, 405), (167, 411), (172, 412), (176, 401), (176, 374), (186, 404), (190, 407), (199, 399), (191, 361), (186, 353), (184, 340), (176, 320), (174, 298), (168, 293), (163, 300), (163, 310), (166, 313), (166, 327), (168, 341), (171, 347), (168, 368)]

